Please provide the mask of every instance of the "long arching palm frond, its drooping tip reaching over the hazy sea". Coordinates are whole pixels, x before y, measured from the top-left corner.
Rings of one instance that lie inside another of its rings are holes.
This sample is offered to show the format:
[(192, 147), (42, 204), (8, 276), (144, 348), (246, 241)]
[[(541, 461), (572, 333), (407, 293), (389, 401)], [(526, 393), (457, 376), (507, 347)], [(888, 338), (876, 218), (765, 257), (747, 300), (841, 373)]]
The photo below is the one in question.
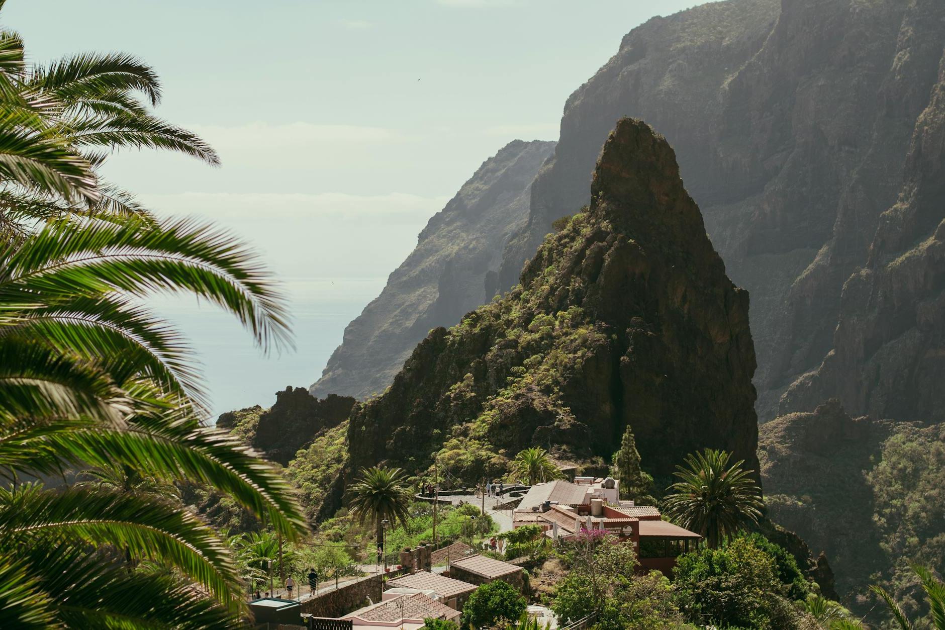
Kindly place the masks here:
[(185, 290), (235, 314), (264, 350), (288, 343), (282, 296), (258, 257), (226, 232), (190, 220), (140, 230), (50, 224), (3, 258), (0, 303)]

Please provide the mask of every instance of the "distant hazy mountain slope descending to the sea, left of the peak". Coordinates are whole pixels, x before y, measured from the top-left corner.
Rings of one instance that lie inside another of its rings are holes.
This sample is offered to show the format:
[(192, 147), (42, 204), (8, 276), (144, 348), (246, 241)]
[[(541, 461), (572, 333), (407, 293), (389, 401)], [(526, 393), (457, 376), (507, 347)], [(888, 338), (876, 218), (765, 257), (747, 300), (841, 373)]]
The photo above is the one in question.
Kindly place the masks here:
[(387, 388), (431, 328), (490, 300), (508, 237), (524, 225), (531, 182), (553, 142), (509, 143), (430, 219), (416, 249), (348, 327), (309, 391), (366, 398)]

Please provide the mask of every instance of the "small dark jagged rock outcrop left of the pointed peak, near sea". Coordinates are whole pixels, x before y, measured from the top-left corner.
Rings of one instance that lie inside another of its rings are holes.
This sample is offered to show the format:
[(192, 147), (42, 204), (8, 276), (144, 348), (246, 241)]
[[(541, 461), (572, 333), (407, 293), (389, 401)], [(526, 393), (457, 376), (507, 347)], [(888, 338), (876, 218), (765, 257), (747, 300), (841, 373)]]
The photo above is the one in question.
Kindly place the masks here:
[(264, 411), (257, 405), (222, 413), (216, 426), (235, 429), (266, 459), (287, 465), (299, 449), (347, 420), (353, 405), (351, 396), (329, 394), (319, 400), (302, 387), (286, 387), (276, 393), (276, 404), (270, 409)]

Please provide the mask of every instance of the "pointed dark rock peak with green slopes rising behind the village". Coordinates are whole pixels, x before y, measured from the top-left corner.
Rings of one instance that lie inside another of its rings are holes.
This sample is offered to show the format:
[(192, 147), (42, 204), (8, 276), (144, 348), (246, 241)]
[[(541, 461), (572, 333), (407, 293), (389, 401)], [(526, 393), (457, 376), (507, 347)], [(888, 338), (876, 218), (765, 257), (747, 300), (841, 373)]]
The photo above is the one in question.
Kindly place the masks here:
[(747, 292), (726, 276), (661, 135), (617, 124), (589, 208), (545, 240), (520, 283), (433, 330), (386, 394), (355, 407), (354, 469), (422, 470), (444, 445), (492, 454), (487, 465), (531, 445), (586, 462), (609, 458), (627, 425), (656, 474), (702, 446), (757, 469)]

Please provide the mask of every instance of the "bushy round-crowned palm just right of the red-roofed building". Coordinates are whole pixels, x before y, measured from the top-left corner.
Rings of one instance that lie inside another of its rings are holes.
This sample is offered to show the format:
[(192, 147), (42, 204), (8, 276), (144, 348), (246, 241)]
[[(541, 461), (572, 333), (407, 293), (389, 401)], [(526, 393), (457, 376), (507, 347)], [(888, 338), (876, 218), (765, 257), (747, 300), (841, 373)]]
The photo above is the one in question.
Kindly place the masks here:
[(679, 481), (667, 488), (664, 514), (682, 527), (705, 536), (711, 549), (731, 539), (761, 516), (761, 488), (743, 470), (743, 461), (729, 465), (730, 454), (706, 448), (676, 466)]

